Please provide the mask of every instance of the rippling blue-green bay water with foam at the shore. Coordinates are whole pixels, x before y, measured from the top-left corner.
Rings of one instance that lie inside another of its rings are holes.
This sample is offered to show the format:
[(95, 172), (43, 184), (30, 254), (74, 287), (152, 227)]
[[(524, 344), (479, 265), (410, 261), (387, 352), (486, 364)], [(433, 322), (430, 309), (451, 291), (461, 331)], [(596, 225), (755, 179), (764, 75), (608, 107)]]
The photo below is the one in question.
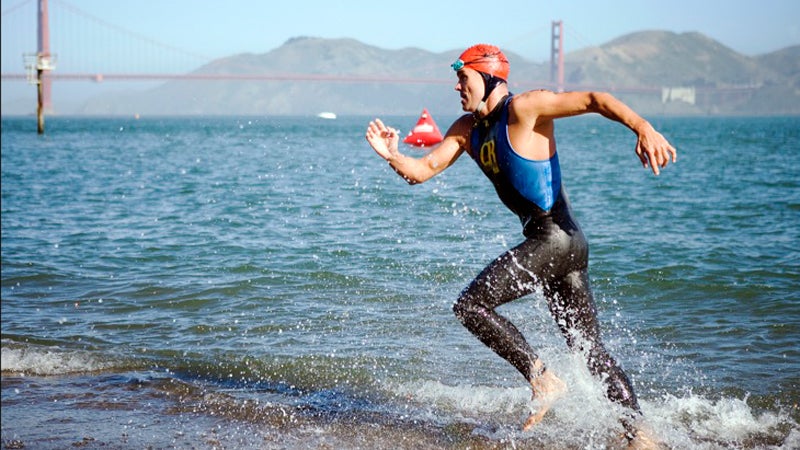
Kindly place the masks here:
[[(539, 295), (501, 312), (569, 389), (520, 430), (451, 311), (519, 223), (467, 157), (406, 185), (370, 119), (3, 118), (4, 448), (619, 448)], [(606, 346), (666, 448), (800, 448), (800, 118), (651, 121), (658, 177), (557, 123)]]

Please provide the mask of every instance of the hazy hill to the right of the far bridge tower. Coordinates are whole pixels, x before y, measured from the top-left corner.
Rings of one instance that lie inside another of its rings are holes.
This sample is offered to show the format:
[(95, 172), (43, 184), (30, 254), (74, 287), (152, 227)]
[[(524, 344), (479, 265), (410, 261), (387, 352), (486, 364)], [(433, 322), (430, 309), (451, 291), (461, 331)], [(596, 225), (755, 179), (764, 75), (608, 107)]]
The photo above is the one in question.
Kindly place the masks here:
[(617, 95), (650, 113), (798, 114), (799, 50), (753, 58), (700, 33), (645, 31), (568, 55), (565, 81), (630, 87)]

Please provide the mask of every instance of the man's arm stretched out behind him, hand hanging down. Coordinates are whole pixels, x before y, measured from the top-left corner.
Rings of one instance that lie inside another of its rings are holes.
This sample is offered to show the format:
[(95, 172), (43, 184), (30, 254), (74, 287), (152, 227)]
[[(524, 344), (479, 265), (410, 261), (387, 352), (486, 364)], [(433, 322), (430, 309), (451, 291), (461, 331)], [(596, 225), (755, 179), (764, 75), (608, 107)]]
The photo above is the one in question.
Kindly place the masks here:
[[(650, 167), (658, 175), (660, 167), (666, 167), (670, 159), (675, 162), (677, 152), (650, 122), (642, 118), (628, 105), (605, 92), (565, 92), (556, 94), (550, 91), (530, 91), (520, 95), (514, 105), (519, 117), (532, 118), (535, 124), (541, 120), (586, 113), (597, 113), (619, 122), (636, 133), (636, 155), (643, 167)], [(512, 103), (513, 105), (513, 103)]]

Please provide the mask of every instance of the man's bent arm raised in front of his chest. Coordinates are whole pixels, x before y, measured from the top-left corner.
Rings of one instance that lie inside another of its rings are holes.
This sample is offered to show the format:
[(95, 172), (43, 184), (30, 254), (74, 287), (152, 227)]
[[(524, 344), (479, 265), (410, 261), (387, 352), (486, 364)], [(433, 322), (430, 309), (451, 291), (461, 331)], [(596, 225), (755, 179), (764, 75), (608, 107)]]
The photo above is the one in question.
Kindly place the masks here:
[(400, 136), (394, 128), (375, 119), (367, 127), (366, 139), (381, 158), (385, 159), (408, 184), (425, 182), (453, 165), (469, 140), (469, 117), (458, 119), (447, 130), (442, 142), (421, 158), (406, 156), (398, 150)]

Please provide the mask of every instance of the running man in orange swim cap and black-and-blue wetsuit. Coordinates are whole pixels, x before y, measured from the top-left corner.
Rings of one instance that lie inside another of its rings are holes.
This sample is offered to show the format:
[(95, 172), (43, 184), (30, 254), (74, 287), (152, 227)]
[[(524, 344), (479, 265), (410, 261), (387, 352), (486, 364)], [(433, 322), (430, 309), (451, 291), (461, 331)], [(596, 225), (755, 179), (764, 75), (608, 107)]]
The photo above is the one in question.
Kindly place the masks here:
[(588, 246), (561, 183), (554, 121), (599, 113), (622, 123), (637, 135), (636, 155), (655, 175), (670, 159), (675, 162), (675, 148), (650, 123), (606, 93), (511, 94), (508, 60), (495, 46), (468, 48), (452, 68), (461, 107), (470, 114), (457, 119), (438, 146), (421, 158), (405, 156), (398, 151), (398, 131), (379, 119), (370, 122), (366, 139), (409, 184), (430, 179), (468, 153), (492, 181), (500, 200), (519, 216), (525, 240), (490, 263), (461, 292), (453, 306), (456, 316), (530, 383), (540, 407), (525, 422), (527, 430), (543, 418), (566, 386), (495, 308), (540, 287), (568, 346), (585, 354), (591, 373), (603, 380), (608, 398), (631, 411), (623, 420), (630, 443), (647, 441), (646, 433), (634, 425), (641, 412), (631, 383), (600, 339), (587, 273)]

